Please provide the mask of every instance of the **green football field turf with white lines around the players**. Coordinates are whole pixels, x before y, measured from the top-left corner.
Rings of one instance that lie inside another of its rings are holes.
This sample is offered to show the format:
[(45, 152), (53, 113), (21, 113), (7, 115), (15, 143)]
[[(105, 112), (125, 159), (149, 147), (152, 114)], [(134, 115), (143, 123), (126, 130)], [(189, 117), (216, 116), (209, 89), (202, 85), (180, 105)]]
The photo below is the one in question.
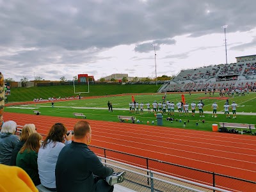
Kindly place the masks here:
[[(162, 101), (163, 95), (136, 95), (134, 94), (135, 100), (138, 102), (143, 102), (146, 104), (147, 102), (157, 102)], [(207, 95), (209, 96), (209, 95)], [(217, 95), (216, 95), (217, 96)], [(192, 95), (185, 94), (186, 102), (191, 104), (192, 101), (195, 101), (196, 104), (202, 97), (205, 97), (204, 93), (195, 93)], [(172, 93), (166, 95), (166, 100), (173, 101), (175, 104), (181, 100), (181, 93)], [(223, 105), (226, 100), (219, 100), (219, 97), (213, 98), (209, 97), (207, 99), (203, 99), (205, 107), (204, 111), (212, 111), (211, 105), (213, 102), (217, 102), (219, 109), (218, 111), (223, 111)], [(237, 112), (247, 112), (247, 113), (256, 113), (256, 109), (253, 108), (256, 99), (256, 93), (250, 93), (250, 95), (240, 96), (240, 97), (230, 97), (229, 101), (230, 104), (232, 101), (236, 101), (239, 105), (237, 108)], [(107, 108), (108, 100), (113, 103), (113, 112), (109, 112), (108, 109), (78, 109), (78, 108)], [(140, 114), (131, 114), (129, 113), (129, 102), (131, 102), (131, 95), (129, 96), (120, 96), (120, 97), (100, 97), (95, 99), (82, 99), (82, 100), (68, 100), (68, 101), (56, 101), (54, 103), (54, 108), (51, 107), (51, 103), (46, 104), (32, 104), (30, 107), (38, 108), (42, 115), (50, 115), (50, 116), (64, 116), (74, 118), (73, 114), (76, 113), (84, 113), (87, 119), (92, 120), (104, 120), (104, 121), (111, 121), (111, 122), (118, 122), (117, 115), (134, 115), (137, 119), (142, 121), (140, 124), (147, 124), (147, 121), (150, 122), (152, 125), (152, 121), (154, 121), (154, 125), (156, 125), (156, 117), (154, 113), (147, 113), (147, 109), (144, 109), (143, 115)], [(151, 105), (152, 106), (152, 105)], [(144, 106), (146, 108), (147, 106)], [(116, 110), (116, 109), (123, 110)], [(152, 107), (151, 107), (152, 108)], [(177, 108), (175, 108), (177, 109)], [(189, 108), (190, 109), (190, 108)], [(10, 108), (6, 107), (5, 111), (15, 112), (15, 113), (33, 113), (33, 109), (17, 109), (17, 108)], [(163, 116), (163, 125), (166, 127), (182, 127), (184, 125), (184, 121), (186, 121), (186, 128), (185, 129), (196, 129), (196, 130), (204, 130), (204, 131), (212, 131), (212, 124), (218, 124), (219, 122), (237, 122), (237, 123), (244, 123), (244, 124), (255, 124), (255, 116), (253, 115), (237, 115), (236, 119), (227, 119), (224, 113), (221, 112), (218, 115), (218, 118), (212, 118), (211, 114), (205, 114), (204, 118), (200, 118), (198, 115), (198, 109), (196, 110), (196, 116), (180, 116), (178, 113), (175, 113), (176, 116), (173, 123), (166, 121), (166, 117), (168, 115)], [(230, 109), (230, 116), (231, 109)], [(177, 121), (176, 121), (177, 119)], [(182, 120), (180, 123), (179, 120)], [(202, 123), (202, 120), (205, 120), (205, 123)], [(189, 120), (189, 122), (188, 122)], [(196, 126), (196, 122), (198, 125)], [(125, 122), (131, 123), (131, 122)]]

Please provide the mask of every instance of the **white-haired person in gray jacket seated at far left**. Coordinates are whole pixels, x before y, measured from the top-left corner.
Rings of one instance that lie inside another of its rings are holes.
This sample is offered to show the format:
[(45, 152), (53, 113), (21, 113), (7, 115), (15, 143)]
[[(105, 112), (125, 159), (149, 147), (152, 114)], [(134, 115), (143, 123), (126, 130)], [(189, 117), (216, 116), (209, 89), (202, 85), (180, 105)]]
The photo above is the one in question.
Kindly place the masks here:
[(0, 164), (10, 165), (12, 150), (19, 142), (15, 135), (17, 124), (13, 121), (4, 122), (0, 132)]

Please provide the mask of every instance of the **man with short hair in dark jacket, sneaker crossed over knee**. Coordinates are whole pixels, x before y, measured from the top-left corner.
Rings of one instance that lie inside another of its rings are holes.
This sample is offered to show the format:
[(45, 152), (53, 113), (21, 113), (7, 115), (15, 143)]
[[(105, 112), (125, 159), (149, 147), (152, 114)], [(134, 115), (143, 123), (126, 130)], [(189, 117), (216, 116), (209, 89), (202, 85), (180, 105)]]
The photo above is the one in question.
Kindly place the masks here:
[(91, 141), (90, 124), (77, 122), (74, 141), (61, 150), (56, 163), (57, 191), (113, 191), (113, 184), (124, 181), (125, 172), (113, 174), (88, 148)]

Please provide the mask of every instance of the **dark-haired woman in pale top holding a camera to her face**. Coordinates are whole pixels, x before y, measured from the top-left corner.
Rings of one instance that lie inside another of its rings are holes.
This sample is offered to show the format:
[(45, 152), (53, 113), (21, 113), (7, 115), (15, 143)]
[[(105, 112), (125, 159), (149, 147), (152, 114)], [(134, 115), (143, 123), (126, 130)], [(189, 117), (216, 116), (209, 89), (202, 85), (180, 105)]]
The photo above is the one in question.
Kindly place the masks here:
[[(71, 143), (72, 134), (67, 135), (67, 128), (61, 123), (52, 125), (38, 152), (38, 172), (42, 186), (56, 191), (55, 166), (60, 151), (65, 144)], [(72, 158), (72, 157), (71, 157)]]

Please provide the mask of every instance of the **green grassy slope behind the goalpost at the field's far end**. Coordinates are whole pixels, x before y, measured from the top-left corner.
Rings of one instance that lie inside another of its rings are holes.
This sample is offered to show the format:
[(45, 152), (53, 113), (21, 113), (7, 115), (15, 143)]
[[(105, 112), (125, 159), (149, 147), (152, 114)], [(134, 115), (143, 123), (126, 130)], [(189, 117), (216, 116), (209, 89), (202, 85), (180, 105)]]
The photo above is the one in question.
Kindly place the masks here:
[[(115, 95), (122, 93), (156, 93), (159, 87), (156, 84), (92, 84), (90, 93), (81, 93), (81, 96)], [(76, 85), (76, 92), (87, 92), (87, 85)], [(74, 94), (73, 85), (60, 86), (36, 86), (11, 88), (12, 95), (8, 96), (8, 102), (31, 101), (35, 98), (48, 99), (49, 97), (68, 97)]]

